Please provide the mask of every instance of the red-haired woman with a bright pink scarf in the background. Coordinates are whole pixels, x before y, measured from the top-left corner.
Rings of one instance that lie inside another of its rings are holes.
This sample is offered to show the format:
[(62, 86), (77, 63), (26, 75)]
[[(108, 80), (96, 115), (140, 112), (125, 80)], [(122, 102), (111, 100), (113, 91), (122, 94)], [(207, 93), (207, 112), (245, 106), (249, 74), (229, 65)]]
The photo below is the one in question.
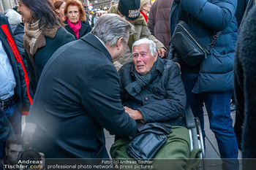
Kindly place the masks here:
[(83, 5), (78, 0), (69, 0), (64, 9), (65, 28), (69, 33), (75, 36), (75, 39), (80, 39), (91, 31), (91, 26), (86, 21), (86, 12)]

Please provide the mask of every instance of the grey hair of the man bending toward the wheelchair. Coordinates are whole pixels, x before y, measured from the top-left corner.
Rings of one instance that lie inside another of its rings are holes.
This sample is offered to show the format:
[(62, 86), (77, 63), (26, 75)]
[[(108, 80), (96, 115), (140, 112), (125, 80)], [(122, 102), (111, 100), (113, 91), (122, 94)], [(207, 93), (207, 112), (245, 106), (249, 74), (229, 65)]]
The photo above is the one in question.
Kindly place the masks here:
[(134, 26), (124, 18), (116, 14), (105, 14), (99, 17), (91, 34), (96, 35), (106, 45), (116, 45), (119, 38), (124, 38), (124, 44), (128, 42), (129, 34), (134, 31)]

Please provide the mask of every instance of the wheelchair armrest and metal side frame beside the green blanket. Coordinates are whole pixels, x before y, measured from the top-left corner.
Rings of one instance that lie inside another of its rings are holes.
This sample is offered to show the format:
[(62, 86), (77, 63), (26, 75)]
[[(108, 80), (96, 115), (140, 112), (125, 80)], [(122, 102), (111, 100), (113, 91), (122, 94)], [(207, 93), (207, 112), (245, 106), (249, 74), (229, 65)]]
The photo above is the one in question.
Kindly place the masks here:
[(198, 117), (194, 117), (189, 104), (187, 104), (185, 107), (184, 117), (186, 120), (187, 129), (189, 130), (190, 151), (194, 149), (202, 150), (200, 154), (200, 164), (197, 169), (206, 169), (206, 163), (204, 161), (204, 158), (206, 158), (206, 154), (200, 120)]

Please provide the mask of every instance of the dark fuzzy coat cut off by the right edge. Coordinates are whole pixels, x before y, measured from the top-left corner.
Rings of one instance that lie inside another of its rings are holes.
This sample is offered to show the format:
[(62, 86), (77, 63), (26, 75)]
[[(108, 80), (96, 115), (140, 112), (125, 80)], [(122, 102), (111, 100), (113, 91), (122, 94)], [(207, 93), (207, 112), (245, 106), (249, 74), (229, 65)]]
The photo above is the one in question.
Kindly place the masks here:
[[(244, 119), (243, 158), (256, 158), (256, 7), (252, 7), (239, 32), (234, 64), (236, 114)], [(245, 165), (246, 166), (246, 165)], [(247, 165), (249, 166), (249, 165)], [(243, 169), (244, 165), (243, 165)]]

